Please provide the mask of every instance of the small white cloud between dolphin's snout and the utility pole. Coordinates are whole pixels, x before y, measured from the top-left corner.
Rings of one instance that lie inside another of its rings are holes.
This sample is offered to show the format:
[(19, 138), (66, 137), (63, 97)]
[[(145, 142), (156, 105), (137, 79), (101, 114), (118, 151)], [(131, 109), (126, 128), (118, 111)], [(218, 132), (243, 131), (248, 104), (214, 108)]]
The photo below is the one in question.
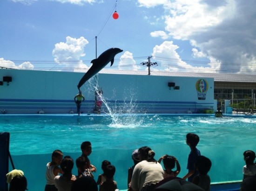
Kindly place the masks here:
[(135, 60), (133, 59), (133, 54), (129, 51), (125, 51), (120, 57), (121, 61), (119, 62), (119, 70), (139, 70), (140, 66), (136, 65)]

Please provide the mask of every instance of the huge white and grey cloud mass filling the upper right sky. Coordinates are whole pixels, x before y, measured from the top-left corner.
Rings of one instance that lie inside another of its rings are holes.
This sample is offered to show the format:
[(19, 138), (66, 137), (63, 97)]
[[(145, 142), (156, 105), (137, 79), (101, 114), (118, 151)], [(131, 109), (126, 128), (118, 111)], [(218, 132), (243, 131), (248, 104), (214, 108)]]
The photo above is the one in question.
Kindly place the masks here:
[[(138, 0), (141, 6), (162, 6), (165, 29), (153, 37), (189, 40), (194, 56), (220, 64), (219, 72), (254, 73), (256, 70), (256, 1), (243, 0)], [(165, 35), (166, 34), (166, 35)], [(197, 50), (198, 52), (195, 52)]]

